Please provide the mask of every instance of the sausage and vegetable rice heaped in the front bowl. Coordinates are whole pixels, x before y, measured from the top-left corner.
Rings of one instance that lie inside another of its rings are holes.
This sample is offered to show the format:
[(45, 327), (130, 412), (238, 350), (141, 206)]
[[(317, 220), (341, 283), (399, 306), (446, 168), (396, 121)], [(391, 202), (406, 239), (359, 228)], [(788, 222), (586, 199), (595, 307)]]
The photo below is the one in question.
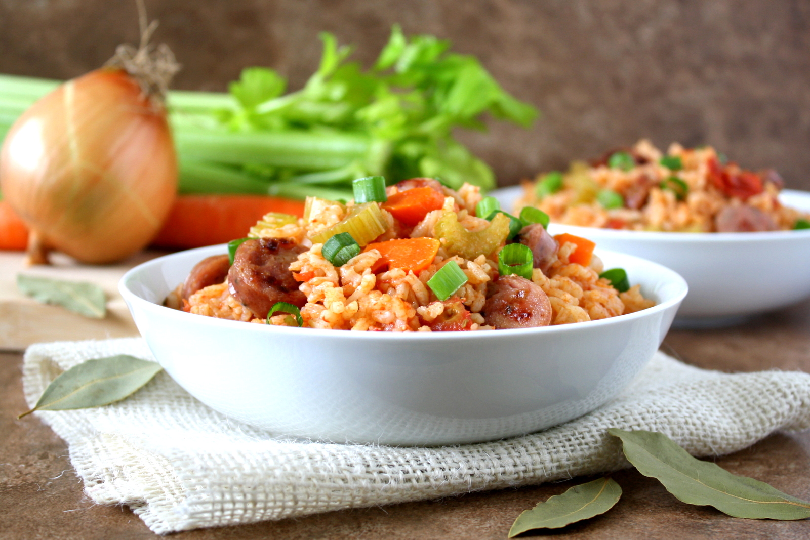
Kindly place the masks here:
[(552, 237), (465, 184), (355, 181), (351, 202), (308, 198), (304, 218), (268, 214), (232, 254), (209, 257), (166, 300), (186, 312), (332, 330), (497, 330), (650, 308), (590, 240)]

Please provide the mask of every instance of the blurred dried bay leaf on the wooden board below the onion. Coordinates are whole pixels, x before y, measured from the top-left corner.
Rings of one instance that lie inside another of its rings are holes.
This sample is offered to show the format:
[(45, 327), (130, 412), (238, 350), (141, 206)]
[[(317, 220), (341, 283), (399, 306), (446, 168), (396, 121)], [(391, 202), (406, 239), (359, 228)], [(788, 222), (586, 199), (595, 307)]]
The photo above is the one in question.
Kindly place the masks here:
[(103, 319), (107, 314), (104, 291), (94, 283), (17, 274), (17, 288), (38, 302), (61, 305), (84, 317)]

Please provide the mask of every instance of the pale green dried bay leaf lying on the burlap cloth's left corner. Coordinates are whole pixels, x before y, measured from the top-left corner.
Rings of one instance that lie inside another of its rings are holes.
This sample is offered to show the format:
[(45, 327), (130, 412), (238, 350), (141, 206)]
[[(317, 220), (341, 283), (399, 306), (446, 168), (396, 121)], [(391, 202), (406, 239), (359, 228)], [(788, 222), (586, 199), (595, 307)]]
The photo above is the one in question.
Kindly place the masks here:
[(86, 409), (109, 405), (146, 385), (162, 369), (156, 362), (130, 355), (87, 360), (53, 379), (36, 406), (17, 418), (30, 415), (35, 410)]

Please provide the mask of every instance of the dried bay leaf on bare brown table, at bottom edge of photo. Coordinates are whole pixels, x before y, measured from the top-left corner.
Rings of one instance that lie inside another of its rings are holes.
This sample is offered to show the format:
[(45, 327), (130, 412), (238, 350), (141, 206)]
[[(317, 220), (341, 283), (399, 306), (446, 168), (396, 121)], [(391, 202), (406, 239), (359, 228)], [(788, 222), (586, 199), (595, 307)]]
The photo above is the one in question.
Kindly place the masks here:
[(612, 478), (574, 486), (522, 512), (509, 529), (509, 538), (532, 529), (559, 529), (575, 521), (608, 512), (619, 501), (621, 487)]

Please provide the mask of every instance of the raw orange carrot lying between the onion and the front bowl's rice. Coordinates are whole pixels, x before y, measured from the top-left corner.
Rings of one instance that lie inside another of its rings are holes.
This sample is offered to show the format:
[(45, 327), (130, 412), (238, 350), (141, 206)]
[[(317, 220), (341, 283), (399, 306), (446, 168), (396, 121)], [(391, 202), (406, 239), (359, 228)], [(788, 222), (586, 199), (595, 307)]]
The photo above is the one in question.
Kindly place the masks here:
[(265, 195), (179, 195), (152, 244), (198, 248), (243, 238), (268, 212), (304, 215), (304, 202)]

